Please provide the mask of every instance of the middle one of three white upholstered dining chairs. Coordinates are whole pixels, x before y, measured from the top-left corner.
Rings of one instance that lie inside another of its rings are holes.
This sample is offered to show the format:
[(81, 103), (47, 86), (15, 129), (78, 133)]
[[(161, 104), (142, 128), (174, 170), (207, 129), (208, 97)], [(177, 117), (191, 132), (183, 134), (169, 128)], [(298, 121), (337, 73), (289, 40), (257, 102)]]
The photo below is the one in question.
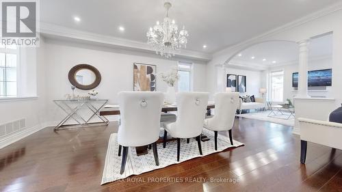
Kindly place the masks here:
[(207, 111), (209, 93), (181, 92), (176, 94), (177, 119), (176, 122), (164, 122), (163, 148), (166, 148), (168, 133), (177, 139), (177, 161), (181, 150), (181, 138), (196, 137), (198, 150), (202, 154), (200, 134), (202, 133), (205, 113)]

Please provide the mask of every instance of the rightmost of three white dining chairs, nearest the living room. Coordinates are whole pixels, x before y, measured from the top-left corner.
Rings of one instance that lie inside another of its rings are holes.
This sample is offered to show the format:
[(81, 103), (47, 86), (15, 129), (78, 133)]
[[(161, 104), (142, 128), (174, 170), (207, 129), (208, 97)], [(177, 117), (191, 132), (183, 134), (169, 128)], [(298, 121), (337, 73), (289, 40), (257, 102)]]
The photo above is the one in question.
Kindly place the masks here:
[(214, 131), (215, 150), (218, 150), (218, 131), (228, 131), (233, 146), (232, 128), (239, 105), (239, 93), (215, 94), (215, 115), (205, 120), (205, 128)]

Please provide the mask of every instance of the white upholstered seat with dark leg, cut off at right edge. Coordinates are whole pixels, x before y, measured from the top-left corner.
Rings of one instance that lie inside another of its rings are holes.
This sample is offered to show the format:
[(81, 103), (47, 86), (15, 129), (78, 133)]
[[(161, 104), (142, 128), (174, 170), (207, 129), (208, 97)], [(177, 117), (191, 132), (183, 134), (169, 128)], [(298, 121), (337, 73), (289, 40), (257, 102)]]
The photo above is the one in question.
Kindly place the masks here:
[(300, 122), (300, 163), (305, 163), (307, 141), (342, 150), (342, 124), (298, 118)]

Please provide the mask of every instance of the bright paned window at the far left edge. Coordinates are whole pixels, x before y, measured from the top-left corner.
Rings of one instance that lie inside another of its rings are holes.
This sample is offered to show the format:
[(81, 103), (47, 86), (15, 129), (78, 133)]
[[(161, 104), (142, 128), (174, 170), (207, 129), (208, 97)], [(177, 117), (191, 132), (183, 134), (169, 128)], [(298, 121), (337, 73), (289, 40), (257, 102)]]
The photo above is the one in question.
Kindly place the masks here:
[(0, 98), (17, 96), (18, 49), (0, 45)]

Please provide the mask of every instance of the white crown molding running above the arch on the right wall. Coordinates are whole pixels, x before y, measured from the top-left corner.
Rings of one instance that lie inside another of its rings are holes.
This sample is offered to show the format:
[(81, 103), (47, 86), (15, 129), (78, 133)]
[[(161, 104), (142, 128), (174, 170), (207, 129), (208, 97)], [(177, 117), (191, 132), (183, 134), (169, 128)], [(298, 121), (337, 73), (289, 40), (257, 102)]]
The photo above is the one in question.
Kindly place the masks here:
[(305, 23), (308, 23), (308, 22), (311, 22), (313, 20), (316, 20), (317, 18), (321, 18), (323, 16), (332, 14), (332, 13), (337, 12), (339, 10), (342, 10), (342, 1), (338, 2), (338, 3), (334, 3), (334, 4), (324, 8), (322, 10), (314, 12), (313, 14), (308, 14), (307, 16), (304, 16), (302, 18), (299, 18), (297, 20), (293, 20), (290, 23), (287, 23), (285, 25), (282, 25), (280, 27), (277, 27), (277, 28), (272, 29), (270, 31), (267, 31), (265, 33), (261, 33), (261, 35), (259, 35), (259, 36), (254, 36), (253, 38), (250, 38), (250, 39), (245, 40), (243, 42), (239, 42), (239, 43), (233, 44), (231, 46), (226, 46), (225, 48), (223, 48), (223, 49), (213, 53), (213, 57), (224, 55), (224, 53), (226, 53), (226, 51), (230, 51), (230, 50), (234, 50), (234, 49), (239, 49), (241, 47), (247, 46), (248, 44), (252, 44), (254, 42), (258, 42), (259, 40), (263, 40), (265, 38), (269, 38), (271, 36), (276, 35), (277, 33), (281, 33), (282, 31), (286, 31), (286, 30), (289, 30), (289, 29), (293, 29), (294, 27), (298, 27), (300, 25), (303, 25)]

